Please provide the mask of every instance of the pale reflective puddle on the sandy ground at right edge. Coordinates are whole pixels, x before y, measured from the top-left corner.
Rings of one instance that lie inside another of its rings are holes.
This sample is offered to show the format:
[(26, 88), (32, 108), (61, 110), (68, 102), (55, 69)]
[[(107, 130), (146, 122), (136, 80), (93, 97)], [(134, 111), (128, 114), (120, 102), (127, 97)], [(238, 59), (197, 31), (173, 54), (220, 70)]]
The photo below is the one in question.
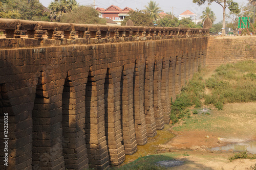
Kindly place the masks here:
[(214, 151), (228, 151), (228, 150), (248, 151), (251, 154), (256, 154), (256, 141), (231, 143), (224, 147), (211, 148), (210, 150), (214, 150)]

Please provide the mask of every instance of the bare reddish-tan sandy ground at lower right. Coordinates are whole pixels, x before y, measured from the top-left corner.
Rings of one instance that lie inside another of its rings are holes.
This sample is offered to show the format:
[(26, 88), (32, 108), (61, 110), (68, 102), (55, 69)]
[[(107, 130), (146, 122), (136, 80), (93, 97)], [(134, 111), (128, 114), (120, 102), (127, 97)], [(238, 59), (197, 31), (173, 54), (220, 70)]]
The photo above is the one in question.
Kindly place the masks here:
[[(246, 111), (243, 112), (243, 110)], [(208, 131), (170, 129), (176, 137), (166, 144), (160, 144), (159, 147), (165, 148), (167, 152), (180, 154), (175, 159), (183, 160), (185, 163), (169, 169), (251, 169), (250, 166), (256, 163), (255, 159), (236, 159), (230, 162), (228, 158), (234, 155), (232, 150), (210, 151), (209, 148), (232, 142), (256, 140), (256, 103), (227, 104), (223, 111), (212, 115), (212, 117), (215, 116), (224, 117), (223, 122), (220, 123), (224, 130), (216, 129), (214, 118), (209, 120), (212, 128)], [(229, 117), (227, 121), (225, 121), (225, 116)], [(183, 126), (183, 124), (175, 126)]]

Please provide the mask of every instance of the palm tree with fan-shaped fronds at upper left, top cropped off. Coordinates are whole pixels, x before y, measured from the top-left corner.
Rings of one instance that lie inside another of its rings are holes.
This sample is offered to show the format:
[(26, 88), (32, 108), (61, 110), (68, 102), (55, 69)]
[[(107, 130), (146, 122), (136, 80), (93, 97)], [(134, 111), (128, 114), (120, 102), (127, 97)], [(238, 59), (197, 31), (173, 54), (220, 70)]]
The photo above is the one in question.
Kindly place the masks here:
[(63, 13), (70, 12), (77, 6), (76, 0), (54, 0), (49, 5), (50, 17), (55, 21), (60, 21)]

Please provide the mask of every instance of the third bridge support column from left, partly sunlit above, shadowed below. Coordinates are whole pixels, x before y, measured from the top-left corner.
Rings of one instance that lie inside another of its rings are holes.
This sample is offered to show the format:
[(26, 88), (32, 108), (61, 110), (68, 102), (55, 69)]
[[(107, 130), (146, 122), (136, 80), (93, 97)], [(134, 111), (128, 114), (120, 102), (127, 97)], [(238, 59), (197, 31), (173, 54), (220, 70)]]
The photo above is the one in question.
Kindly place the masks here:
[(85, 93), (89, 67), (68, 71), (62, 93), (63, 156), (68, 169), (88, 168)]

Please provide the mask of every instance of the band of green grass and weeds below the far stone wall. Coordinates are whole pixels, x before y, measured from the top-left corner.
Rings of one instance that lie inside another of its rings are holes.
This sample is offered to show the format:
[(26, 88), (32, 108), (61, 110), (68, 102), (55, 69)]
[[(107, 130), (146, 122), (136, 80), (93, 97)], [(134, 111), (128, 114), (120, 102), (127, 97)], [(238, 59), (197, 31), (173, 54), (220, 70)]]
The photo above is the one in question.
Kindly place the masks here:
[[(240, 61), (219, 66), (214, 75), (204, 80), (203, 76), (206, 72), (200, 67), (193, 79), (182, 87), (176, 101), (172, 101), (170, 114), (172, 123), (176, 124), (179, 119), (190, 116), (185, 111), (187, 107), (201, 108), (202, 99), (205, 105), (212, 104), (218, 110), (222, 110), (226, 103), (256, 101), (255, 72), (256, 62)], [(205, 87), (210, 90), (210, 93), (204, 93)]]

